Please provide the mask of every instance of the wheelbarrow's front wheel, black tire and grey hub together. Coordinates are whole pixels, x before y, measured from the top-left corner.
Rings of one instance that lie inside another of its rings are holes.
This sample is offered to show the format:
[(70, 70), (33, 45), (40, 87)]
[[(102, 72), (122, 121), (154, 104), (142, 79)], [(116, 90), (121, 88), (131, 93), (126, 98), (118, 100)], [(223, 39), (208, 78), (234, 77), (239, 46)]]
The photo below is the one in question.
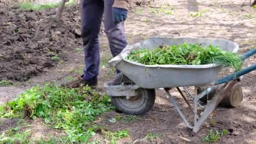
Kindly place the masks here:
[(143, 115), (147, 113), (155, 103), (155, 89), (139, 88), (137, 96), (126, 99), (125, 96), (112, 97), (112, 104), (121, 112), (128, 115)]

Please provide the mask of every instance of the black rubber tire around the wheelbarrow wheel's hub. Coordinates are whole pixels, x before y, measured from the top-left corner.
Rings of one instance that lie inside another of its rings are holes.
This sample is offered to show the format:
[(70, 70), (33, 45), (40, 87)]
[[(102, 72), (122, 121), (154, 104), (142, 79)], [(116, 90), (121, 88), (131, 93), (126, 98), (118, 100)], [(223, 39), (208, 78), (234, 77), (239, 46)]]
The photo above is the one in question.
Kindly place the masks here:
[(123, 103), (120, 100), (126, 99), (125, 96), (112, 97), (112, 104), (114, 104), (118, 110), (120, 110), (121, 112), (127, 115), (144, 115), (155, 104), (155, 89), (139, 88), (138, 91), (143, 91), (145, 96), (144, 102), (143, 104), (141, 104), (140, 107), (131, 108), (123, 105)]

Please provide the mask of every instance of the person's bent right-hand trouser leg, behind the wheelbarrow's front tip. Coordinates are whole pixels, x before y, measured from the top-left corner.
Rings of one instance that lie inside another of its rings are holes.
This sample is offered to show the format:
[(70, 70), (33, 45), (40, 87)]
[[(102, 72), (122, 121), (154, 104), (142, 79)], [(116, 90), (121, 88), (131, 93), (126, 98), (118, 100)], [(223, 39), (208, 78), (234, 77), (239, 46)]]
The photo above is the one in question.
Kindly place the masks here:
[[(112, 56), (117, 56), (127, 45), (124, 22), (114, 24), (112, 19), (112, 5), (114, 0), (104, 0), (104, 27), (109, 40)], [(117, 70), (117, 73), (119, 71)]]

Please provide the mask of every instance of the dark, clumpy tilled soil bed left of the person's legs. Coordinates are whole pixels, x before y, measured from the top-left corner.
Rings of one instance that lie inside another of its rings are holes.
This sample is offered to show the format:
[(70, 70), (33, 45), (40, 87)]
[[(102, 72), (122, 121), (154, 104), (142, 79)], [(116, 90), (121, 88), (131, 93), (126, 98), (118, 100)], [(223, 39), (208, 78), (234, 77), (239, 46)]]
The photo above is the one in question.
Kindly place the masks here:
[(26, 81), (65, 61), (81, 46), (80, 6), (73, 5), (54, 21), (56, 9), (0, 11), (0, 80)]

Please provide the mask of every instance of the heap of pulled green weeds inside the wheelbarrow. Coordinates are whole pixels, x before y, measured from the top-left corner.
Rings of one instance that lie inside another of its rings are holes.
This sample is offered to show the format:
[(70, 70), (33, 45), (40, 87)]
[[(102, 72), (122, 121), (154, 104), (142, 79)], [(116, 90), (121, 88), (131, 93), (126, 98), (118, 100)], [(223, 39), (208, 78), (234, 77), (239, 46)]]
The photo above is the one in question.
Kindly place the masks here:
[(199, 44), (181, 44), (161, 46), (150, 51), (140, 49), (133, 51), (126, 59), (141, 64), (220, 64), (223, 67), (232, 67), (240, 70), (243, 64), (240, 56), (236, 53), (222, 51), (218, 46), (209, 45), (201, 47)]

